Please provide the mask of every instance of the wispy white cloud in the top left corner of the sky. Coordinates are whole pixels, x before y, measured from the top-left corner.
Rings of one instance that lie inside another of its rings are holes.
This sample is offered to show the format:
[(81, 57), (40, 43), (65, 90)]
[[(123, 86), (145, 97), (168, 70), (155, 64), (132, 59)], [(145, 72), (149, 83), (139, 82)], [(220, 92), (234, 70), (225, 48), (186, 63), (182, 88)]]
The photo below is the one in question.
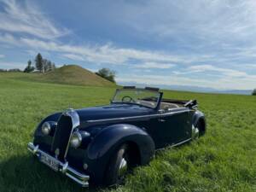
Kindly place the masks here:
[(58, 38), (69, 32), (66, 28), (57, 28), (32, 2), (1, 0), (0, 3), (3, 4), (0, 13), (2, 31), (24, 32), (38, 38)]

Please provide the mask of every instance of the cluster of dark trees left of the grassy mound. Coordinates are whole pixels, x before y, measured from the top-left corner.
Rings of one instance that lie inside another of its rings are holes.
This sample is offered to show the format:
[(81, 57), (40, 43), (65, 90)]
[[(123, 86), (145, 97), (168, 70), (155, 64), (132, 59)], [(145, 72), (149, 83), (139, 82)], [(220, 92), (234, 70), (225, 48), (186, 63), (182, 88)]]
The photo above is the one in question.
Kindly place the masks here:
[(49, 61), (47, 59), (44, 59), (43, 56), (38, 53), (34, 60), (34, 66), (32, 66), (32, 61), (27, 61), (27, 66), (24, 69), (24, 73), (31, 73), (34, 70), (37, 70), (40, 73), (46, 73), (49, 71), (55, 70), (55, 63), (52, 61)]

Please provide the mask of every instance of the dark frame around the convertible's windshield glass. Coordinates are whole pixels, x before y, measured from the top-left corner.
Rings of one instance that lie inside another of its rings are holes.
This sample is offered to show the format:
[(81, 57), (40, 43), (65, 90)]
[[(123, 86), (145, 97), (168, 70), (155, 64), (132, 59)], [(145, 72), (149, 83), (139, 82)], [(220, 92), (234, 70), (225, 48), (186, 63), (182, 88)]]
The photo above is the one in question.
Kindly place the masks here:
[[(137, 103), (137, 102), (114, 102), (113, 100), (114, 100), (115, 96), (117, 96), (118, 92), (121, 91), (121, 90), (134, 90), (134, 91), (137, 91), (137, 90), (141, 90), (142, 91), (142, 90), (144, 90), (144, 91), (148, 91), (148, 92), (158, 93), (159, 96), (157, 98), (156, 105), (155, 105), (154, 108), (151, 108), (151, 107), (149, 107), (147, 105), (143, 105), (143, 104)], [(121, 104), (132, 104), (132, 105), (142, 106), (144, 108), (157, 109), (157, 108), (160, 107), (160, 100), (162, 98), (162, 95), (163, 95), (163, 93), (158, 91), (158, 90), (148, 90), (148, 89), (143, 89), (143, 88), (121, 88), (121, 89), (115, 90), (113, 98), (110, 100), (110, 102), (111, 103), (121, 103)]]

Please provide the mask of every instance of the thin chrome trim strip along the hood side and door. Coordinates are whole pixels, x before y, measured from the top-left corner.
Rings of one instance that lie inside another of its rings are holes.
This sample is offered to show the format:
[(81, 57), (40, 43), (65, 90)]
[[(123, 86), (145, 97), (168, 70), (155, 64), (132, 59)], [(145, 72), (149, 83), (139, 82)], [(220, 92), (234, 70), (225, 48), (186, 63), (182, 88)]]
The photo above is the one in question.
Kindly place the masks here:
[[(182, 108), (183, 109), (183, 108)], [(126, 119), (137, 119), (137, 118), (150, 118), (150, 117), (166, 117), (173, 114), (189, 112), (188, 108), (184, 108), (186, 110), (177, 111), (177, 112), (168, 112), (168, 113), (159, 113), (159, 114), (146, 114), (146, 115), (139, 115), (139, 116), (132, 116), (132, 117), (122, 117), (122, 118), (111, 118), (111, 119), (96, 119), (96, 120), (87, 120), (87, 123), (95, 123), (95, 122), (102, 122), (102, 121), (112, 121), (112, 120), (126, 120)]]

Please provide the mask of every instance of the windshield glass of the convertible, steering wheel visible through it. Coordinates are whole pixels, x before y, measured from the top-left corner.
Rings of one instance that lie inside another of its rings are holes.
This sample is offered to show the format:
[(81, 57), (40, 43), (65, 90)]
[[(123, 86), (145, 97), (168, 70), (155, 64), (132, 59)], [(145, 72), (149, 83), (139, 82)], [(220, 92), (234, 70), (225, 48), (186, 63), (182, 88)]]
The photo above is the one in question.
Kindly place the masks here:
[(123, 102), (156, 108), (160, 93), (154, 90), (124, 89), (117, 90), (112, 102)]

